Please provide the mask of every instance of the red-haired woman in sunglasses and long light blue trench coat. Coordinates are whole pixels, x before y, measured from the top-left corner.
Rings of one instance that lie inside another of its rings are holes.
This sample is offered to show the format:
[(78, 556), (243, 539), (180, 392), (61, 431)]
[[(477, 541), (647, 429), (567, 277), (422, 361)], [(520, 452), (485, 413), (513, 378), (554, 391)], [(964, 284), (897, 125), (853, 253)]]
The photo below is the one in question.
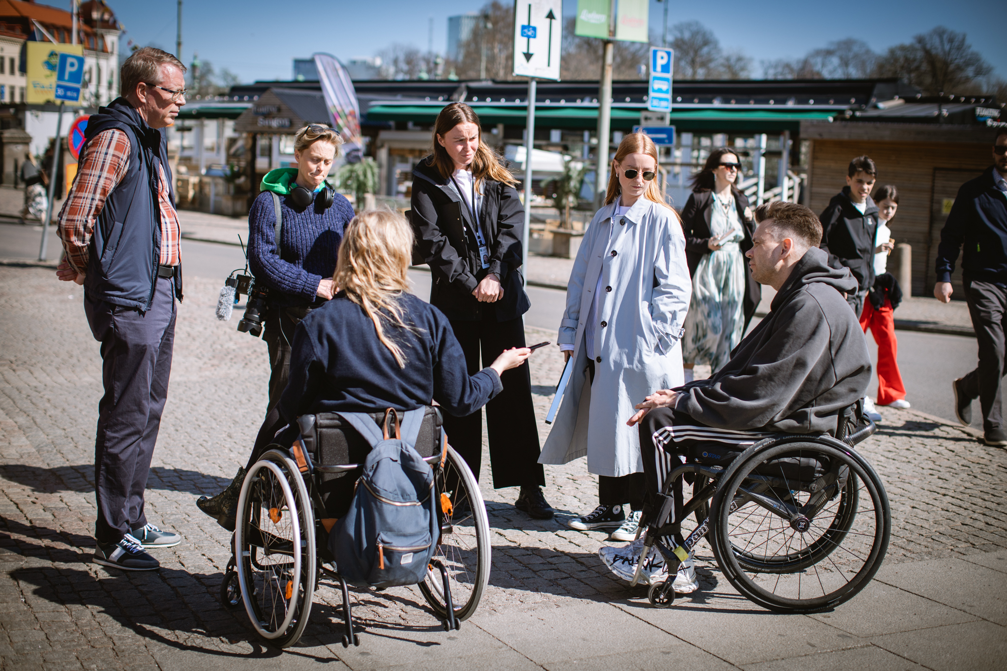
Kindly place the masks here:
[(680, 339), (692, 283), (682, 224), (655, 179), (657, 166), (649, 137), (625, 136), (567, 285), (558, 341), (574, 357), (574, 373), (540, 460), (587, 455), (599, 505), (567, 524), (614, 529), (615, 540), (635, 537), (645, 489), (639, 437), (626, 421), (639, 398), (683, 383)]

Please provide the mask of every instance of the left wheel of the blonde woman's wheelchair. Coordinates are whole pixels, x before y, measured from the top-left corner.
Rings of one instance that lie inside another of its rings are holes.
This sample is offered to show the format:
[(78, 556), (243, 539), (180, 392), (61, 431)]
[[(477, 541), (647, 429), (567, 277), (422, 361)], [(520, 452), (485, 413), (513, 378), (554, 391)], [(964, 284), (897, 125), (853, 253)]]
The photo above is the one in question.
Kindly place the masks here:
[(286, 648), (300, 639), (315, 584), (314, 515), (297, 466), (271, 450), (245, 476), (235, 545), (245, 611), (256, 632)]

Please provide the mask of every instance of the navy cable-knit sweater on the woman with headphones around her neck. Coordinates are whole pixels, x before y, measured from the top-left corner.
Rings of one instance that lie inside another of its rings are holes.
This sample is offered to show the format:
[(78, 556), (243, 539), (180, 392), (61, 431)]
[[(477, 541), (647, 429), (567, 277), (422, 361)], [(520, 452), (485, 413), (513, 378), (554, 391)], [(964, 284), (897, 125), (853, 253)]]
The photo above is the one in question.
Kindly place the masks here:
[(269, 287), (270, 303), (279, 307), (308, 305), (315, 299), (318, 283), (331, 278), (342, 231), (353, 218), (353, 207), (335, 194), (332, 206), (324, 208), (320, 198), (303, 209), (295, 209), (290, 196), (280, 196), (283, 230), (280, 256), (276, 256), (276, 210), (273, 194), (263, 191), (249, 211), (249, 266), (257, 282)]

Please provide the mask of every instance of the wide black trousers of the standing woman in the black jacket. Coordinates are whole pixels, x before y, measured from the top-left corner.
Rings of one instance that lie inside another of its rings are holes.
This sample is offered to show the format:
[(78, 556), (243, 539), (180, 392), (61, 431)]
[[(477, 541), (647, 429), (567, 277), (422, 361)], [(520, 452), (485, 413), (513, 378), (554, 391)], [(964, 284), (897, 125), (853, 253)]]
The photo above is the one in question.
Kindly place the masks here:
[[(525, 346), (525, 324), (522, 318), (497, 322), (492, 306), (482, 309), (479, 321), (452, 320), (451, 328), (465, 353), (469, 375), (488, 366), (505, 349)], [(508, 370), (500, 381), (503, 383), (503, 390), (486, 403), (493, 488), (545, 485), (545, 471), (542, 464), (539, 464), (541, 448), (535, 424), (535, 407), (532, 405), (532, 376), (528, 366)], [(464, 417), (445, 412), (444, 431), (451, 447), (461, 455), (478, 480), (482, 463), (482, 410)]]

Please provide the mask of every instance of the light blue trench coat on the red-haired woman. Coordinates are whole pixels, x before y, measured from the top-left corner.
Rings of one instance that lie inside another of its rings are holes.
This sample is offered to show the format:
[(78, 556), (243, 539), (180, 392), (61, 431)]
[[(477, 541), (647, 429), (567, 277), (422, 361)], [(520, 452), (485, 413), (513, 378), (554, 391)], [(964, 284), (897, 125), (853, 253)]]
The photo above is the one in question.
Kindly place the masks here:
[[(566, 464), (586, 454), (588, 471), (619, 477), (643, 470), (637, 430), (626, 426), (633, 405), (685, 382), (680, 340), (692, 281), (674, 210), (640, 198), (616, 217), (609, 240), (614, 210), (612, 203), (595, 213), (570, 274), (558, 342), (573, 344), (576, 358), (539, 462)], [(584, 320), (599, 274), (594, 351), (601, 360), (592, 385)]]

